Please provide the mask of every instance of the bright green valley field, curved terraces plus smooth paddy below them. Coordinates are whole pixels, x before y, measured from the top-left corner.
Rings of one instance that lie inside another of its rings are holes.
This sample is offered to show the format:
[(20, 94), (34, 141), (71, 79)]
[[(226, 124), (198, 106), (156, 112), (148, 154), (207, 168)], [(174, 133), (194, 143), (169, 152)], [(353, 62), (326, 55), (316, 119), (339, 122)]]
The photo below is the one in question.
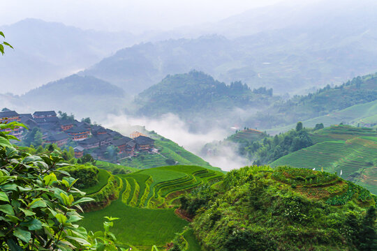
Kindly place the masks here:
[[(151, 250), (151, 245), (163, 248), (188, 225), (175, 215), (175, 199), (191, 188), (223, 178), (223, 173), (195, 165), (175, 165), (117, 177), (123, 181), (119, 198), (99, 211), (85, 213), (80, 225), (97, 231), (102, 228), (103, 217), (120, 218), (112, 230), (119, 243), (133, 250)], [(200, 250), (192, 230), (184, 231), (183, 236), (186, 251)]]

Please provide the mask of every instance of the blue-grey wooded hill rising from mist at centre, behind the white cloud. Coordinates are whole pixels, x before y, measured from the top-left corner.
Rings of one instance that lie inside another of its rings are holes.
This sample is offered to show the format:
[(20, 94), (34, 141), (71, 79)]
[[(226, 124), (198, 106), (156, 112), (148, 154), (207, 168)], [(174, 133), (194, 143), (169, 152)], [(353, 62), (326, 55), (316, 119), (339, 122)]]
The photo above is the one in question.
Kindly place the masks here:
[(142, 91), (135, 97), (135, 114), (153, 117), (173, 113), (197, 128), (200, 123), (205, 126), (205, 123), (217, 121), (228, 126), (239, 120), (235, 110), (263, 109), (275, 100), (279, 98), (272, 96), (272, 89), (251, 90), (241, 82), (226, 85), (205, 73), (192, 70), (168, 75)]

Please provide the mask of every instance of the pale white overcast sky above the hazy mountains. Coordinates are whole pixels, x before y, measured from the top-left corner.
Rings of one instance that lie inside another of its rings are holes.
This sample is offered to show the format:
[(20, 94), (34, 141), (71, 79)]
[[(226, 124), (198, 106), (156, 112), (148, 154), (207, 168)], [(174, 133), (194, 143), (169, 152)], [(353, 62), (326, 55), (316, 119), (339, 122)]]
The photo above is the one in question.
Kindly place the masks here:
[(279, 1), (288, 0), (11, 0), (1, 1), (0, 25), (34, 17), (83, 29), (169, 30)]

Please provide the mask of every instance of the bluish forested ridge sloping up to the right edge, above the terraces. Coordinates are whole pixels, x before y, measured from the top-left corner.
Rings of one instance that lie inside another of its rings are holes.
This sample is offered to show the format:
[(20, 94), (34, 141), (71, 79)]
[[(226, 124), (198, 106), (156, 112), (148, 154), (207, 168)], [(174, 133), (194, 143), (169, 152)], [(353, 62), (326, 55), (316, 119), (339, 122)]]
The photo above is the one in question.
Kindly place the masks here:
[[(325, 86), (314, 93), (295, 96), (286, 101), (275, 102), (262, 112), (244, 120), (249, 128), (270, 129), (279, 133), (295, 127), (297, 121), (307, 121), (306, 126), (325, 123), (362, 123), (369, 117), (369, 126), (373, 121), (374, 102), (377, 100), (377, 74), (354, 77), (339, 85)], [(357, 122), (359, 121), (359, 122)], [(286, 127), (285, 127), (286, 126)]]

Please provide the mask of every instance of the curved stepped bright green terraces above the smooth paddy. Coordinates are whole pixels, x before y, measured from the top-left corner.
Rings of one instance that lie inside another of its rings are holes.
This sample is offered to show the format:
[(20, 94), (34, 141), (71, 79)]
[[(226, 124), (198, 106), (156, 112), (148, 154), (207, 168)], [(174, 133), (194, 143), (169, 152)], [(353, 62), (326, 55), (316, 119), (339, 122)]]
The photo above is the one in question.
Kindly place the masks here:
[(180, 192), (220, 179), (223, 174), (198, 166), (177, 165), (145, 169), (121, 177), (126, 186), (121, 195), (124, 203), (140, 208), (166, 208), (174, 204)]

